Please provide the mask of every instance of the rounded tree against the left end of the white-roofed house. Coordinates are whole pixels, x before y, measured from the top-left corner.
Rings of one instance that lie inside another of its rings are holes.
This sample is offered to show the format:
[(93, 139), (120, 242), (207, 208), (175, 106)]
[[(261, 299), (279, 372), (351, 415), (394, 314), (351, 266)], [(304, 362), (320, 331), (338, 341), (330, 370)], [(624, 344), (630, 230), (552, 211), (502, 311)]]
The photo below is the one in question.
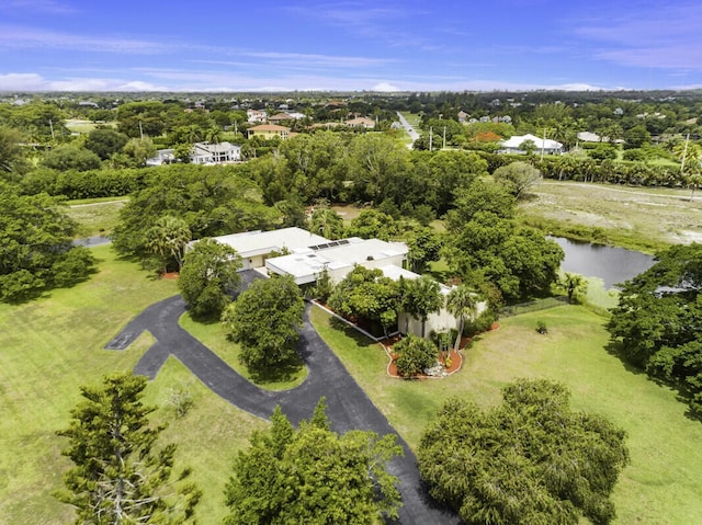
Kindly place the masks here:
[(191, 316), (218, 318), (239, 287), (241, 258), (228, 244), (202, 239), (185, 254), (178, 288)]

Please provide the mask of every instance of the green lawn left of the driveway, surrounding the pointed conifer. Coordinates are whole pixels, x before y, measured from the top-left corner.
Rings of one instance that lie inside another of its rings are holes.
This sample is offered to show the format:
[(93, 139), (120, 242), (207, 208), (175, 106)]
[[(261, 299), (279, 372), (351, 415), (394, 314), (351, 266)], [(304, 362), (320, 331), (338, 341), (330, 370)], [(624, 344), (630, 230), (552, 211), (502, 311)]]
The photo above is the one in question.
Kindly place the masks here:
[[(125, 352), (103, 350), (105, 343), (145, 307), (178, 293), (173, 281), (155, 279), (110, 247), (93, 250), (100, 271), (90, 281), (26, 305), (0, 305), (0, 523), (70, 520), (70, 509), (50, 495), (70, 465), (55, 432), (67, 426), (80, 385), (132, 369), (151, 339), (143, 335)], [(181, 458), (207, 490), (201, 523), (218, 523), (230, 459), (264, 422), (230, 407), (171, 361), (149, 397), (165, 399), (180, 385), (191, 390), (195, 407), (171, 422), (168, 437), (181, 444)], [(158, 414), (173, 419), (169, 411)]]

